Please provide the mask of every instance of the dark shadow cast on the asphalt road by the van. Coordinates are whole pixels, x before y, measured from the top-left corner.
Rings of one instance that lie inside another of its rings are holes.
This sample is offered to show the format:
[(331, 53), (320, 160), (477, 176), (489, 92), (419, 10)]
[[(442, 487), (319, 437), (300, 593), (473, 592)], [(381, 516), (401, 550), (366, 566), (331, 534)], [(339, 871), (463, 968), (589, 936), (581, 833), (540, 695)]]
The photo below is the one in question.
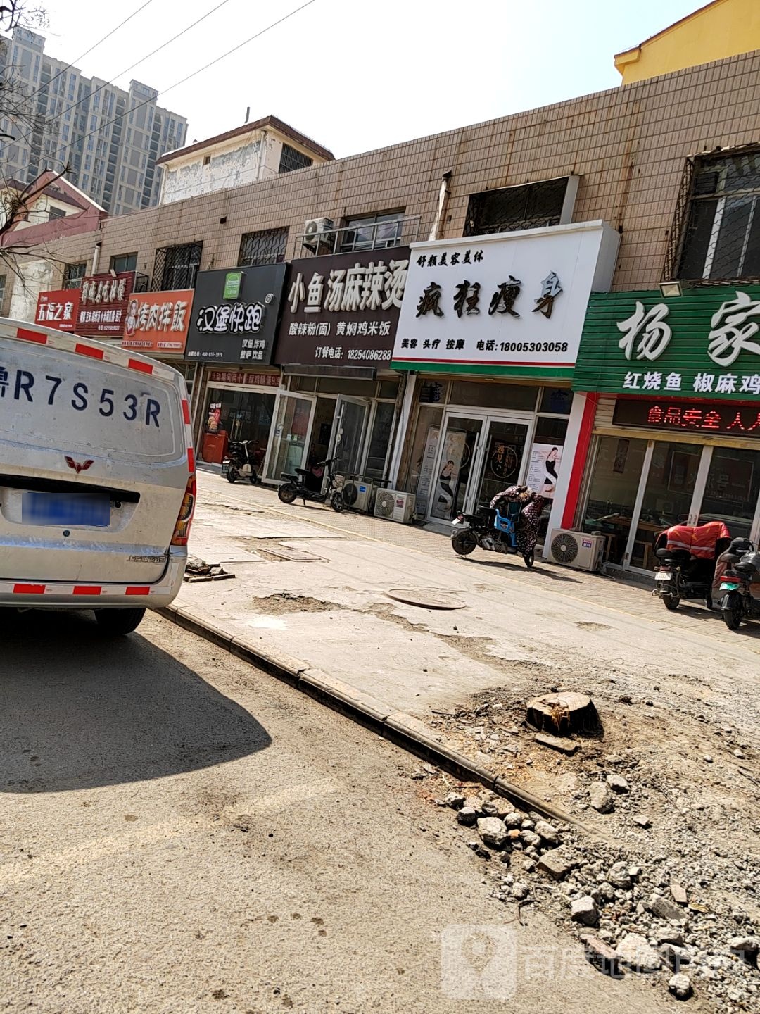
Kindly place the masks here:
[(3, 610), (0, 792), (65, 792), (211, 768), (265, 729), (139, 633), (84, 613)]

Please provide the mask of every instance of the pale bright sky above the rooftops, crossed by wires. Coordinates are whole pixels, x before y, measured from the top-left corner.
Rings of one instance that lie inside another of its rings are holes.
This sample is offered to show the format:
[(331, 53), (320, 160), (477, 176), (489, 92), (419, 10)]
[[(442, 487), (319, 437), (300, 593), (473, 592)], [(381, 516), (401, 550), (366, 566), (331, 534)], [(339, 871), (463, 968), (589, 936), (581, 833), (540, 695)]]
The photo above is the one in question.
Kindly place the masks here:
[[(76, 66), (109, 79), (220, 0), (149, 0)], [(156, 88), (202, 67), (304, 0), (225, 0), (182, 39), (121, 74)], [(76, 61), (145, 0), (44, 0), (46, 51)], [(270, 113), (348, 155), (617, 87), (613, 55), (699, 0), (314, 0), (238, 53), (167, 91), (188, 140)], [(73, 14), (73, 16), (72, 16)]]

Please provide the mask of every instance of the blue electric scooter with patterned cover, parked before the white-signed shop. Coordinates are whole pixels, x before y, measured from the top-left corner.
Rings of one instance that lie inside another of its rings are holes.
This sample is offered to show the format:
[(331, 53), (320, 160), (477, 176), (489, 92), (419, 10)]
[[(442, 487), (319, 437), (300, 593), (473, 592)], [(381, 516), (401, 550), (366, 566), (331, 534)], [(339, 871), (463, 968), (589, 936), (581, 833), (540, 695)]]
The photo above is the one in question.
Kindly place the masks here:
[(466, 557), (476, 546), (492, 553), (520, 554), (532, 567), (544, 498), (529, 486), (511, 486), (498, 493), (475, 514), (460, 514), (454, 522), (451, 545)]

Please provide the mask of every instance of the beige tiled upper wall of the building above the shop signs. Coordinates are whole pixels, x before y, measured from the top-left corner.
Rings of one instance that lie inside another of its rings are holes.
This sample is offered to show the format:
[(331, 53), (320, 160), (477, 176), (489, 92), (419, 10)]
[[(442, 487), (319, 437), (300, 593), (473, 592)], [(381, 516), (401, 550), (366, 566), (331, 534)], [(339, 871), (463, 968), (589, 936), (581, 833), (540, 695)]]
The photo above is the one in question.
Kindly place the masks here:
[[(621, 231), (614, 288), (648, 288), (662, 278), (686, 159), (758, 140), (754, 53), (109, 219), (97, 238), (102, 258), (137, 251), (148, 275), (158, 247), (194, 241), (204, 244), (203, 270), (234, 266), (241, 235), (264, 229), (288, 229), (290, 260), (304, 222), (318, 217), (338, 225), (403, 210), (420, 216), (417, 235), (404, 238), (426, 238), (445, 172), (441, 237), (462, 235), (471, 194), (573, 173), (574, 220), (601, 218)], [(92, 245), (81, 236), (60, 256), (88, 260)]]

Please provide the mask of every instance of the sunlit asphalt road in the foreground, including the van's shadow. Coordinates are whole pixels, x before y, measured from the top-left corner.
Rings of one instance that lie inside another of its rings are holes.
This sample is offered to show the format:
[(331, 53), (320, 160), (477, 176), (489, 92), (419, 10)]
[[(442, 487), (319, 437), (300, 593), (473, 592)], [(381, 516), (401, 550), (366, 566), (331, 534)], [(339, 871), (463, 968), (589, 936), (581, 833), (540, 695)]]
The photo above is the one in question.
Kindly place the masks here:
[(1, 638), (0, 1012), (670, 1007), (511, 921), (416, 763), (348, 719), (156, 617)]

